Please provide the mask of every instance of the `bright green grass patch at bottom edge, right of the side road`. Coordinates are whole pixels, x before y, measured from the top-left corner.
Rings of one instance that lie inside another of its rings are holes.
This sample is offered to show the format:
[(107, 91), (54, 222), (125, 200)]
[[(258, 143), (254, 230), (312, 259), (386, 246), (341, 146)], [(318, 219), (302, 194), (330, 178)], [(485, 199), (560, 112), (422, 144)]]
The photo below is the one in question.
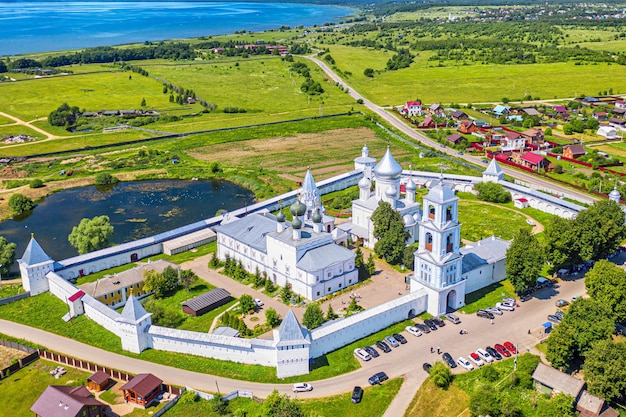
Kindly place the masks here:
[(455, 384), (447, 390), (426, 379), (409, 404), (405, 417), (470, 417), (469, 395)]

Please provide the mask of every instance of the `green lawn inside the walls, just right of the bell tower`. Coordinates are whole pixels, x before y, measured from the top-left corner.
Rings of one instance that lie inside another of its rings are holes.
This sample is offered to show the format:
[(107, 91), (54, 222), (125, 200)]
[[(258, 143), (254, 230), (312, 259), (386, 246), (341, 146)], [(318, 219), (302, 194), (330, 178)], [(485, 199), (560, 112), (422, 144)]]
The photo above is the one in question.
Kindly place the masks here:
[(519, 229), (531, 228), (517, 210), (480, 201), (460, 200), (459, 222), (461, 238), (472, 242), (491, 235), (510, 240)]

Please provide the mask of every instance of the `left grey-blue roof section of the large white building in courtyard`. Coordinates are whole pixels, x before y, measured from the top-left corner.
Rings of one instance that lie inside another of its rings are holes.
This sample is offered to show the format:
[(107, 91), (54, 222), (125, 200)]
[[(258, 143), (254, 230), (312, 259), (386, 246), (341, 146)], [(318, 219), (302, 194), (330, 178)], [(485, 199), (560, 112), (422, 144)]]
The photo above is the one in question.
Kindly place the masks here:
[(215, 231), (232, 237), (236, 241), (242, 242), (258, 251), (267, 253), (265, 237), (268, 233), (276, 232), (276, 220), (271, 220), (262, 214), (255, 213), (217, 226)]

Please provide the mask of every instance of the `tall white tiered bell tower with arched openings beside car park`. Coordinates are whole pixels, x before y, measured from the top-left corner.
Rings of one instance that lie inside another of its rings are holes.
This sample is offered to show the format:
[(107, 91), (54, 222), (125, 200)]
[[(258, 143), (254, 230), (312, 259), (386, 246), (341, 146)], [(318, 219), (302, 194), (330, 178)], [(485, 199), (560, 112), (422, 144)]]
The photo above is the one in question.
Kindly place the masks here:
[(465, 305), (458, 201), (443, 180), (424, 197), (411, 291), (426, 290), (427, 311), (434, 316), (446, 313), (448, 307), (458, 309)]

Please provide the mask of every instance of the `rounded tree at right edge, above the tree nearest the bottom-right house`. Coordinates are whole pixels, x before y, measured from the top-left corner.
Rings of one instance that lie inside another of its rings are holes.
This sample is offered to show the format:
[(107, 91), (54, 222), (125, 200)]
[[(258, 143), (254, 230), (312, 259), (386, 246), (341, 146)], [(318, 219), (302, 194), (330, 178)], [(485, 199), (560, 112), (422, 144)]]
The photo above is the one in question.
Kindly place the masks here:
[(596, 262), (585, 275), (587, 294), (608, 307), (615, 322), (626, 320), (626, 272), (607, 260)]

